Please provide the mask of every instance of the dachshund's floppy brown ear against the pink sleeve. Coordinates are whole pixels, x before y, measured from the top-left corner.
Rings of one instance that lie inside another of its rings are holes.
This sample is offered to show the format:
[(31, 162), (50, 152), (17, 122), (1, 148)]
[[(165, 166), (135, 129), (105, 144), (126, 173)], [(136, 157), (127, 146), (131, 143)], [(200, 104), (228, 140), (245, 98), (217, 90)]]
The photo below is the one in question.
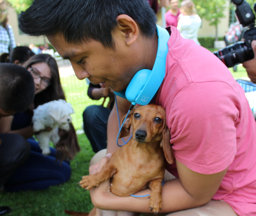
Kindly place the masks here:
[(160, 143), (160, 147), (163, 148), (163, 153), (164, 156), (169, 164), (173, 164), (174, 162), (174, 153), (172, 149), (172, 145), (170, 143), (171, 135), (170, 135), (170, 130), (166, 126), (166, 129), (163, 129), (162, 132), (162, 141)]

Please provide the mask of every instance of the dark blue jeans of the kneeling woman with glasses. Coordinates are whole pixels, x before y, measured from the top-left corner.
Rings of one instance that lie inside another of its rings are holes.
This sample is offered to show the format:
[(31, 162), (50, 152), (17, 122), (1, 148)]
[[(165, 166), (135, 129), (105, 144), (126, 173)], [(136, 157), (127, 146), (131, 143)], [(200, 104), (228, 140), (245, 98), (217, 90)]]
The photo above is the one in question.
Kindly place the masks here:
[(70, 179), (69, 162), (63, 161), (61, 165), (59, 161), (55, 163), (55, 148), (50, 148), (51, 153), (44, 156), (35, 139), (28, 139), (28, 142), (31, 146), (29, 157), (9, 177), (4, 185), (5, 191), (42, 190)]

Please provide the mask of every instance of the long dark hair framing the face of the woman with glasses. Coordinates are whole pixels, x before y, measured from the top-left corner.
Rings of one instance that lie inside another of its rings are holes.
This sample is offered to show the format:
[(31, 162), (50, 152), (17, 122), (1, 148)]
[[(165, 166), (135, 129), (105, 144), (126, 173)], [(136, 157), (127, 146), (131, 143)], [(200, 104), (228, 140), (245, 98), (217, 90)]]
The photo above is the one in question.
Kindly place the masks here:
[(64, 95), (64, 91), (61, 87), (61, 81), (58, 71), (58, 65), (55, 59), (49, 54), (38, 54), (34, 55), (29, 60), (27, 60), (24, 64), (24, 68), (29, 68), (31, 65), (37, 63), (47, 63), (49, 66), (52, 76), (51, 76), (51, 84), (44, 89), (44, 91), (39, 92), (35, 95), (34, 99), (34, 109), (39, 105), (42, 105), (46, 102), (58, 99), (66, 99)]

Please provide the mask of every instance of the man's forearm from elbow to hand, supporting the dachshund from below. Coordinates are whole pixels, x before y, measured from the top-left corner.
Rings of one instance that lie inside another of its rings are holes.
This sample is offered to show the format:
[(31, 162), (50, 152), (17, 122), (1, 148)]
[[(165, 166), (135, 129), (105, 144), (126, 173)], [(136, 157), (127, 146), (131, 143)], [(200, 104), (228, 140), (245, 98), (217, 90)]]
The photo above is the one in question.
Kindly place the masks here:
[[(148, 206), (148, 197), (120, 197), (114, 195), (113, 193), (104, 193), (103, 196), (98, 196), (97, 194), (92, 194), (94, 192), (95, 189), (90, 190), (93, 205), (100, 209), (152, 213)], [(146, 189), (140, 191), (137, 193), (137, 195), (145, 195), (149, 193), (150, 189)], [(94, 197), (96, 199), (94, 199)], [(180, 179), (173, 179), (165, 182), (163, 185), (162, 210), (159, 213), (168, 213), (193, 207), (199, 207), (206, 204), (207, 202), (209, 202), (209, 200), (198, 200), (192, 198), (183, 188)]]

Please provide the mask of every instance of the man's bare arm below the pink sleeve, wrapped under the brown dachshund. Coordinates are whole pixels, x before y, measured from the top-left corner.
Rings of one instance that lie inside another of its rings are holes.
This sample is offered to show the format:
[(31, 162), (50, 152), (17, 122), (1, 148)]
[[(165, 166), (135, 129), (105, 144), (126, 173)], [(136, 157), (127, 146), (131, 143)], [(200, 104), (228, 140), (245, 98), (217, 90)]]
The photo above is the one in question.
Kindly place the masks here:
[[(105, 162), (108, 157), (105, 157)], [(180, 178), (167, 181), (163, 185), (163, 207), (160, 213), (185, 210), (199, 207), (209, 202), (218, 190), (227, 171), (214, 174), (201, 174), (177, 163)], [(98, 170), (99, 171), (99, 170)], [(90, 174), (96, 170), (90, 169)], [(134, 198), (131, 196), (116, 196), (109, 190), (109, 181), (102, 182), (97, 188), (90, 190), (91, 200), (95, 207), (104, 210), (123, 210), (132, 212), (151, 213), (148, 207), (148, 197)], [(142, 190), (137, 195), (149, 194), (150, 189)]]

